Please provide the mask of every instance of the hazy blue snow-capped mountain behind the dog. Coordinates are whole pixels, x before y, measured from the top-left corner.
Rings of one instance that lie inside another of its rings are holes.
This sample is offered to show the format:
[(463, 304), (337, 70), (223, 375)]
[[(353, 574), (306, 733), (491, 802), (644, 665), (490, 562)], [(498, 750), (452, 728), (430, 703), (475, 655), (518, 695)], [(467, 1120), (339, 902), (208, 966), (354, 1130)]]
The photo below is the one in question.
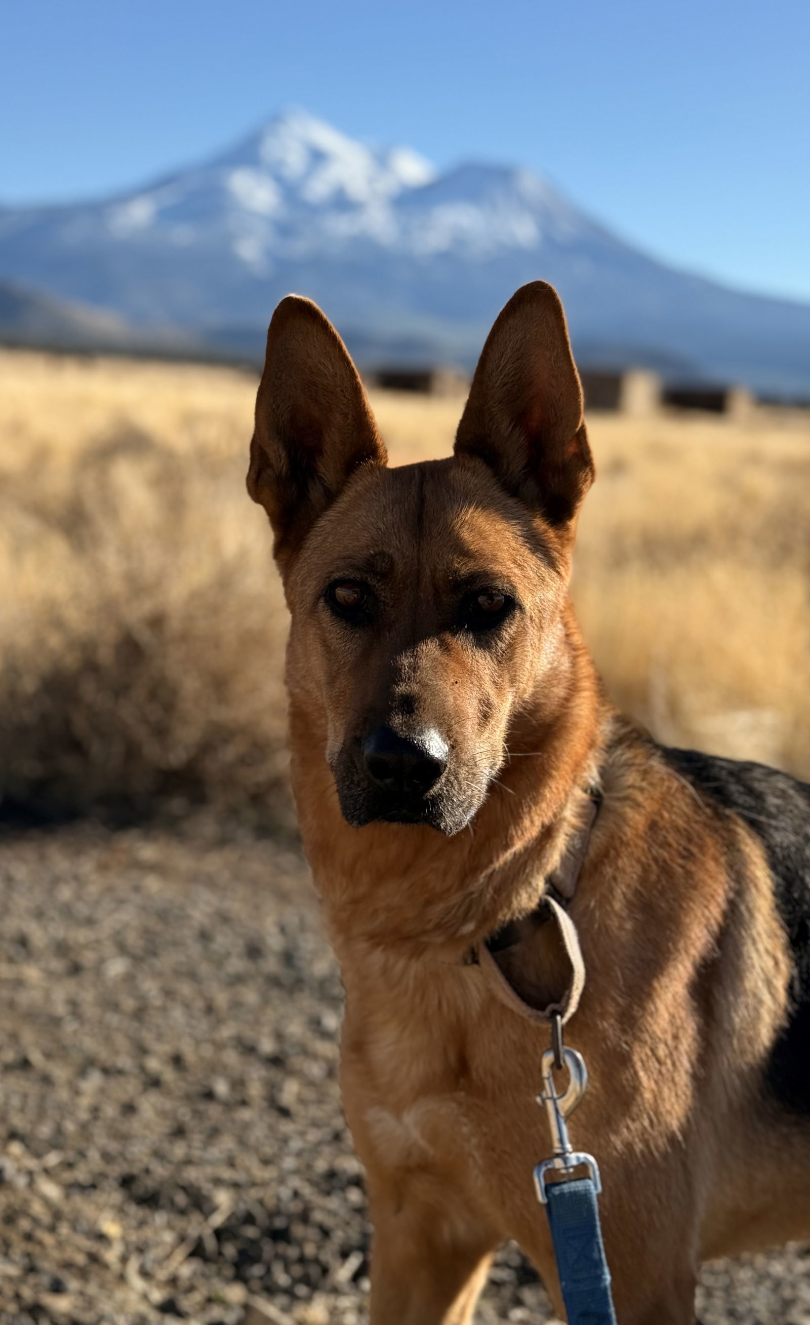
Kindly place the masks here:
[(437, 174), (303, 111), (126, 196), (0, 209), (0, 278), (257, 358), (296, 290), (367, 363), (469, 364), (537, 277), (559, 288), (581, 362), (810, 395), (809, 306), (656, 262), (529, 171)]

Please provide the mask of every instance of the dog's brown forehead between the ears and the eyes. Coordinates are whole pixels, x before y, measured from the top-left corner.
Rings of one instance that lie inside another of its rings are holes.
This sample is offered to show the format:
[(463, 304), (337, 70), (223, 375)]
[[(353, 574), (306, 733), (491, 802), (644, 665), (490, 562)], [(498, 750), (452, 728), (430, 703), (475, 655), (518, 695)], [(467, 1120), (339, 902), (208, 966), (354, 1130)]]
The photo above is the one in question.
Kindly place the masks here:
[(430, 562), (451, 575), (532, 574), (537, 553), (547, 559), (536, 522), (479, 468), (442, 460), (357, 476), (310, 541), (312, 570), (386, 579)]

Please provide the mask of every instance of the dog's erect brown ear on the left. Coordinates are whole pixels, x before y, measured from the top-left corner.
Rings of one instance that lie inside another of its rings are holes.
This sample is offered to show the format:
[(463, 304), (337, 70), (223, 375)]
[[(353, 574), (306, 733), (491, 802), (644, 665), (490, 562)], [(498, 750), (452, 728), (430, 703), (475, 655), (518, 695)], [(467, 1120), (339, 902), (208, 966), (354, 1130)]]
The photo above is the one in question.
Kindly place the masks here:
[(287, 295), (267, 331), (255, 399), (248, 492), (270, 517), (283, 559), (360, 465), (388, 456), (332, 323), (310, 299)]

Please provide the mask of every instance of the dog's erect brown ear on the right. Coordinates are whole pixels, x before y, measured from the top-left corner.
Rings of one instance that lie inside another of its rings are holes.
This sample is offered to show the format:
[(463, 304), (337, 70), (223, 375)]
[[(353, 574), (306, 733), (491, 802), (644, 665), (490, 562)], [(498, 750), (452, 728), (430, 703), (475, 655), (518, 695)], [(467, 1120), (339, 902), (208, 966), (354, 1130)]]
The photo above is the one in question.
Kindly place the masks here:
[(482, 350), (455, 453), (478, 456), (504, 488), (564, 525), (594, 478), (582, 388), (565, 314), (545, 281), (521, 286)]

